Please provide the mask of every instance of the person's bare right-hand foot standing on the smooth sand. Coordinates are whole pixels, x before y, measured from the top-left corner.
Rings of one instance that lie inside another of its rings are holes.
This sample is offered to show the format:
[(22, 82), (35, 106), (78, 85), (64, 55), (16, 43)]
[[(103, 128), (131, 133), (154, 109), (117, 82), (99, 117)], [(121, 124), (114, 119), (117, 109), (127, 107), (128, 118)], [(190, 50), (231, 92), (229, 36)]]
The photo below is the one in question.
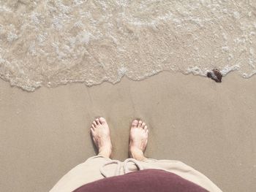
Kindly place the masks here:
[(146, 159), (144, 152), (148, 143), (148, 127), (141, 120), (133, 120), (129, 134), (129, 155), (138, 161)]

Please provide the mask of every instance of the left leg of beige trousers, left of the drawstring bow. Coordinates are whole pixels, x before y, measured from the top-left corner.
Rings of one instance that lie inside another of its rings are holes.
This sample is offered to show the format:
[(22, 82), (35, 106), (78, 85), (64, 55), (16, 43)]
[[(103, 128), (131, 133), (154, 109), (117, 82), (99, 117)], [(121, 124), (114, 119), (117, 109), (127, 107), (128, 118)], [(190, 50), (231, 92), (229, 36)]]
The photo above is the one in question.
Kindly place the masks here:
[(108, 163), (108, 161), (111, 161), (111, 159), (100, 155), (87, 159), (83, 164), (75, 166), (61, 177), (61, 180), (53, 186), (50, 192), (70, 192), (86, 183), (103, 179), (104, 177), (99, 169), (103, 164)]

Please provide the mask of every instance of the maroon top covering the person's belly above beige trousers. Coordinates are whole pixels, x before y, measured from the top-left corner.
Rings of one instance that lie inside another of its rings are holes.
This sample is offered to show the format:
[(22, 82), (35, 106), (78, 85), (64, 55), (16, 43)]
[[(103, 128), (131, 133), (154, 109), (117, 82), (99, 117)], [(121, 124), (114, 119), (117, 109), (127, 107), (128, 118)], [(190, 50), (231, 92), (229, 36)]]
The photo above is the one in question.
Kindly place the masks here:
[(75, 192), (206, 192), (177, 174), (159, 169), (145, 169), (108, 177), (81, 186)]

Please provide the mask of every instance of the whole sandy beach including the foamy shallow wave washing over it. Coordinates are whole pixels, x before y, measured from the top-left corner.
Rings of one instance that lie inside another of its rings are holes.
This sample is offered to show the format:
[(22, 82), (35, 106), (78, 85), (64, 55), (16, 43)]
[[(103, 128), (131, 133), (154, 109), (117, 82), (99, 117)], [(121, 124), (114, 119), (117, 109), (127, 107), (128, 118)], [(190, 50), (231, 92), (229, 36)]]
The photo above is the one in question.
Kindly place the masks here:
[(1, 1), (0, 191), (49, 191), (100, 116), (115, 159), (138, 118), (148, 158), (256, 191), (255, 21), (256, 1)]

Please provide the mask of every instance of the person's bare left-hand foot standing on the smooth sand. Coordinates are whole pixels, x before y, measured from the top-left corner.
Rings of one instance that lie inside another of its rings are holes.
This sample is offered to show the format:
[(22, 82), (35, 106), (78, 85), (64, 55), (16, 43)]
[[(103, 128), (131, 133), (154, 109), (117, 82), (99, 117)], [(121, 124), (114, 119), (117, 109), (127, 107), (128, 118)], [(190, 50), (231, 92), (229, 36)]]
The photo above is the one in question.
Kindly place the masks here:
[(110, 158), (112, 153), (112, 144), (110, 140), (110, 129), (105, 118), (97, 118), (91, 124), (91, 135), (94, 139), (94, 144), (99, 150), (98, 155)]

